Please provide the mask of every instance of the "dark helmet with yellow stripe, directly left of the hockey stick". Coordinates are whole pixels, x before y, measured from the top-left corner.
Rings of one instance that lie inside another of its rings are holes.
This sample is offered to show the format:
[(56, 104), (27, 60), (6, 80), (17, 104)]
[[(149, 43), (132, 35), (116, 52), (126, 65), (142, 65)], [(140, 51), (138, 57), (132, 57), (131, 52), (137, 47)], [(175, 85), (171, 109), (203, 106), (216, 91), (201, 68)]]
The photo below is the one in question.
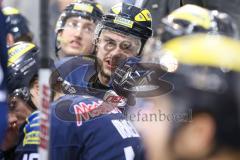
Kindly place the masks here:
[(38, 47), (29, 42), (17, 42), (8, 48), (8, 56), (9, 93), (18, 88), (29, 87), (31, 80), (38, 74)]

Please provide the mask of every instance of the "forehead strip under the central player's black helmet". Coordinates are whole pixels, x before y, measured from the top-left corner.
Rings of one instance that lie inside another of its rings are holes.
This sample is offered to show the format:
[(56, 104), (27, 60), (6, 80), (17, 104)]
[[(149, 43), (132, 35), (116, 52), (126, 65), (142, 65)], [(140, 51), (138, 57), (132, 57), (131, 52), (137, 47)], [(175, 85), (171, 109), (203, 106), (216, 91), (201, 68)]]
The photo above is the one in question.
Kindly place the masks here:
[(108, 37), (116, 41), (130, 41), (134, 43), (141, 43), (140, 38), (131, 36), (131, 35), (125, 35), (119, 32), (106, 30), (104, 29), (100, 35), (101, 37)]

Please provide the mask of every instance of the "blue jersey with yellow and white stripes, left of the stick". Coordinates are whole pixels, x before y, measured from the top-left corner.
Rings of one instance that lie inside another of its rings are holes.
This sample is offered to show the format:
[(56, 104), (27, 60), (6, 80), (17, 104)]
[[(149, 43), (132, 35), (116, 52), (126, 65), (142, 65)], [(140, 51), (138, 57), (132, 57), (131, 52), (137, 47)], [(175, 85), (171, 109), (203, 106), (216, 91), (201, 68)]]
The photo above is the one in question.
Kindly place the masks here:
[(20, 128), (19, 142), (15, 150), (15, 160), (38, 160), (40, 143), (39, 111), (33, 112)]

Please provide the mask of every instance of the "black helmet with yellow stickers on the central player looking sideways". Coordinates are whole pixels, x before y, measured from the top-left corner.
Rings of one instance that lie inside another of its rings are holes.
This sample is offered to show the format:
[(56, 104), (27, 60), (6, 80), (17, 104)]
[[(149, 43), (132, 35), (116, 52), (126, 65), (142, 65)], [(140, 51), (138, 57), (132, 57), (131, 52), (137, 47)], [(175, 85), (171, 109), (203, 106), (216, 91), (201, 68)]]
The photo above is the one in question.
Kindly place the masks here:
[(97, 25), (95, 39), (100, 36), (103, 29), (140, 38), (141, 48), (143, 48), (146, 40), (152, 36), (152, 17), (147, 9), (141, 9), (127, 3), (119, 3), (113, 6), (109, 13), (105, 14)]

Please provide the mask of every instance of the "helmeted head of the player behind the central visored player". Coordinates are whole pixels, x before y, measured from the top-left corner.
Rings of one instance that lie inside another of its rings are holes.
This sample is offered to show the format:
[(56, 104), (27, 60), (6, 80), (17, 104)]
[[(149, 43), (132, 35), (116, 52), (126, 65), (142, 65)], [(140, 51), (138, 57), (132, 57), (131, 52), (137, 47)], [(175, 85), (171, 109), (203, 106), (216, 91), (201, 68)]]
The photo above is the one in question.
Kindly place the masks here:
[(92, 54), (94, 30), (102, 15), (102, 6), (96, 2), (77, 1), (68, 5), (56, 25), (56, 56)]

